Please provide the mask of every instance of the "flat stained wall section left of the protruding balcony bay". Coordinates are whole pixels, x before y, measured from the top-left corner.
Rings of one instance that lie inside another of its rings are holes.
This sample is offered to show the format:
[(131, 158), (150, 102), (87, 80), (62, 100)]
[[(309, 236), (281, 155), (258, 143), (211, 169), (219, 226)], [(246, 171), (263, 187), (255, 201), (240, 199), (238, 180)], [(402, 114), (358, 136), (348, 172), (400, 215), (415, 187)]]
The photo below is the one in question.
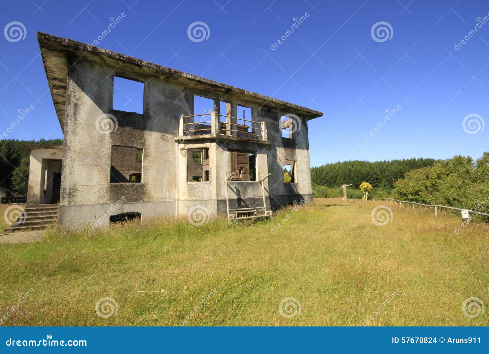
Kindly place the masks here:
[[(115, 202), (122, 196), (127, 203), (175, 201), (174, 137), (182, 107), (188, 108), (185, 89), (156, 78), (131, 77), (108, 65), (95, 67), (83, 58), (75, 61), (68, 72), (61, 205), (85, 205), (78, 217), (91, 222), (89, 209), (94, 204)], [(145, 82), (144, 114), (112, 109), (114, 74)], [(96, 126), (97, 118), (104, 114), (117, 120), (111, 132), (102, 123)], [(144, 149), (142, 183), (109, 183), (111, 145)], [(64, 210), (60, 209), (60, 219)], [(175, 207), (159, 213), (174, 215)]]

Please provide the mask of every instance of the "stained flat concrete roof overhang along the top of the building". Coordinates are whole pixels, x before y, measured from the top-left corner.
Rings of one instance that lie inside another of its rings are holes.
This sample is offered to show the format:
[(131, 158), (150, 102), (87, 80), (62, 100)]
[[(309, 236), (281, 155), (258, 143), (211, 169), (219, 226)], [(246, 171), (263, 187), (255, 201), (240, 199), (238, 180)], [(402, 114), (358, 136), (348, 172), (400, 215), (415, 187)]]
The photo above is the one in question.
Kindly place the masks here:
[(178, 82), (184, 86), (192, 86), (200, 91), (212, 90), (215, 94), (227, 96), (231, 99), (244, 102), (267, 105), (280, 109), (284, 114), (295, 114), (309, 119), (322, 117), (322, 112), (280, 99), (257, 94), (251, 91), (238, 89), (234, 86), (222, 84), (197, 75), (183, 71), (163, 67), (128, 55), (113, 52), (111, 50), (93, 47), (89, 44), (74, 41), (67, 38), (56, 37), (47, 33), (38, 32), (37, 38), (46, 71), (47, 82), (53, 98), (54, 108), (61, 125), (65, 130), (65, 105), (67, 96), (68, 69), (76, 60), (86, 56), (94, 63), (107, 64), (118, 71), (133, 72), (135, 76), (153, 76), (163, 80)]

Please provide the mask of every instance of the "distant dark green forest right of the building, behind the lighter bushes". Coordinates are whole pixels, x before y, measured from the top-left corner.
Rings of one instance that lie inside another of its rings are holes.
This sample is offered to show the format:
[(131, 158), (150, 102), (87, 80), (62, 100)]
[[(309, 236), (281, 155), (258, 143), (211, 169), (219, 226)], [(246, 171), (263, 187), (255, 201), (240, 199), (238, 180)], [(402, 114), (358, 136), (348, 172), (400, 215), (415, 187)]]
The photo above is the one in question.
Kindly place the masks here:
[(359, 186), (370, 183), (374, 189), (369, 196), (384, 198), (394, 188), (394, 182), (404, 178), (406, 172), (432, 166), (435, 159), (403, 159), (392, 161), (344, 161), (311, 168), (312, 191), (316, 197), (342, 196), (339, 186), (353, 184), (348, 188), (349, 198), (361, 198)]

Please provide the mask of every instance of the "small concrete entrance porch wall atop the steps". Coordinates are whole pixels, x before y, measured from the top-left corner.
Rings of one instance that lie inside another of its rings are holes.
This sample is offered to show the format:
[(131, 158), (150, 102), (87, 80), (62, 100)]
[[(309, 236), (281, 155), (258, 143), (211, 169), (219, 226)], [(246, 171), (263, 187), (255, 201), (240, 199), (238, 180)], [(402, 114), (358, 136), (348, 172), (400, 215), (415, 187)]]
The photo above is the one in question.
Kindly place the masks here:
[[(34, 149), (29, 158), (29, 186), (27, 204), (44, 204), (51, 202), (52, 173), (61, 169), (62, 149)], [(55, 160), (55, 161), (50, 161)], [(44, 192), (44, 167), (47, 167), (47, 190)]]

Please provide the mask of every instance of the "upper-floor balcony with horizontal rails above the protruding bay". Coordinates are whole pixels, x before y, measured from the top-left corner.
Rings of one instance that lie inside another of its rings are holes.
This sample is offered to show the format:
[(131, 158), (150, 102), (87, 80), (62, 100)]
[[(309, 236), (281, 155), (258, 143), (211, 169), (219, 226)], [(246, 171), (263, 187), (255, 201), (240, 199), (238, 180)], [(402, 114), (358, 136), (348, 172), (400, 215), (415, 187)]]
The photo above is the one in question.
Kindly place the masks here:
[(266, 122), (224, 116), (215, 111), (180, 117), (178, 137), (175, 140), (208, 138), (269, 143)]

